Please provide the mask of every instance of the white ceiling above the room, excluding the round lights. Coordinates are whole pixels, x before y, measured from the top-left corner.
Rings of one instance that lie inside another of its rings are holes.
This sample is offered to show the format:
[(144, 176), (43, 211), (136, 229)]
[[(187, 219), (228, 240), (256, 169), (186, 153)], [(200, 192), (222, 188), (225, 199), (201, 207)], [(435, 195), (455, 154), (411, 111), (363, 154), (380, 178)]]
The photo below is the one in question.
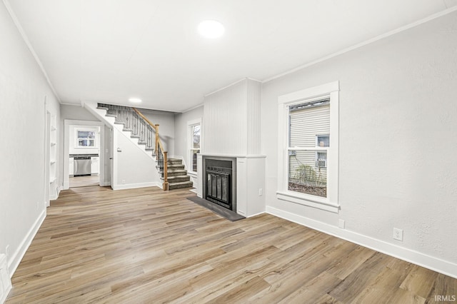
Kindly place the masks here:
[[(4, 0), (7, 2), (7, 0)], [(457, 0), (9, 0), (62, 103), (185, 111), (457, 5)], [(226, 34), (197, 34), (204, 19)]]

